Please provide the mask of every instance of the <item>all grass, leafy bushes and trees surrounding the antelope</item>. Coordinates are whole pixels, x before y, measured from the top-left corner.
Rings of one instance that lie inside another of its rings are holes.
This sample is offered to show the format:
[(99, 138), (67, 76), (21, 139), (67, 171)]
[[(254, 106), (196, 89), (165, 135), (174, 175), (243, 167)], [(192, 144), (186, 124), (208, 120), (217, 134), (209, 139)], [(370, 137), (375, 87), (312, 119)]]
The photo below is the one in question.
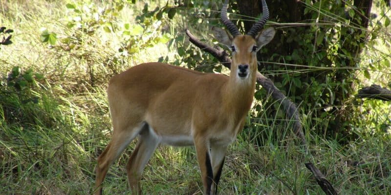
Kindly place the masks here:
[[(230, 2), (230, 18), (245, 32), (261, 10), (246, 3), (260, 4), (237, 2)], [(299, 105), (313, 156), (259, 87), (228, 151), (220, 194), (322, 194), (304, 162), (316, 164), (340, 194), (391, 194), (390, 102), (354, 97), (372, 83), (391, 87), (390, 2), (267, 2), (267, 25), (278, 31), (261, 50), (259, 69)], [(0, 0), (6, 27), (0, 194), (92, 194), (96, 158), (112, 131), (109, 78), (147, 61), (227, 73), (184, 34), (189, 28), (215, 44), (208, 29), (221, 25), (220, 6), (219, 0)], [(125, 164), (133, 149), (131, 143), (110, 168), (108, 194), (130, 193)], [(159, 147), (142, 187), (146, 194), (202, 194), (194, 148)]]

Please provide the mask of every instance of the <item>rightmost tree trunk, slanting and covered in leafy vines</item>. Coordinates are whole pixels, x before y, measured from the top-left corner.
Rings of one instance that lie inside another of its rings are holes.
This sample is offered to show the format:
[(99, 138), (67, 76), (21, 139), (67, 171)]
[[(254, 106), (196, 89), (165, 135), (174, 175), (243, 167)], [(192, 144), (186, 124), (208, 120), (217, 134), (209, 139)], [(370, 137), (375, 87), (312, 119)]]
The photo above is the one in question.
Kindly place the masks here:
[[(356, 27), (352, 31), (351, 27), (344, 26), (342, 31), (350, 33), (343, 34), (340, 39), (341, 48), (339, 49), (339, 58), (336, 60), (337, 67), (356, 67), (360, 61), (360, 54), (363, 50), (363, 45), (367, 41), (367, 28), (369, 24), (369, 15), (372, 7), (372, 0), (354, 0), (353, 5), (357, 10), (354, 12), (354, 17), (350, 19), (350, 24)], [(364, 13), (364, 14), (363, 14)], [(335, 120), (330, 124), (330, 130), (342, 132), (349, 131), (349, 126), (346, 125), (353, 117), (350, 106), (345, 107), (346, 99), (351, 97), (355, 88), (356, 79), (354, 70), (345, 68), (337, 70), (335, 74), (335, 82), (340, 83), (336, 87), (335, 106), (340, 107), (336, 113)]]

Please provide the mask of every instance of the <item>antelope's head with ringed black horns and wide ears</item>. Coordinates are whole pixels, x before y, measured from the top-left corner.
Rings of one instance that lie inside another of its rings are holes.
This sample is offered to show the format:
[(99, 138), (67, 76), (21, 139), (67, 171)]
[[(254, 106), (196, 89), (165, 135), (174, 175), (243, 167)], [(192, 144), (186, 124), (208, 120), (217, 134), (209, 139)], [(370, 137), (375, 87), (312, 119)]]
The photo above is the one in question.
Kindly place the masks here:
[(228, 46), (232, 51), (231, 77), (244, 80), (253, 75), (254, 77), (252, 78), (254, 79), (255, 73), (258, 71), (256, 53), (262, 46), (269, 43), (276, 33), (274, 28), (267, 28), (261, 31), (269, 18), (269, 9), (265, 0), (262, 0), (262, 7), (262, 18), (253, 25), (246, 35), (242, 35), (236, 25), (227, 17), (228, 0), (225, 0), (221, 9), (221, 21), (231, 34), (217, 27), (212, 28), (217, 41)]

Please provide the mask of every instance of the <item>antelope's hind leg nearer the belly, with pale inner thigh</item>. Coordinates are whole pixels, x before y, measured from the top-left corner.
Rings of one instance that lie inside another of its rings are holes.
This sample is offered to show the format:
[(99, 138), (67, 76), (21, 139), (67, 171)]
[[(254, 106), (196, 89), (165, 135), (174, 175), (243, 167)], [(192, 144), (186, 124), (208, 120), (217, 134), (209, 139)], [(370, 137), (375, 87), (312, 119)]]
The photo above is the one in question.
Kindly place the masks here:
[(159, 139), (151, 131), (153, 131), (152, 128), (146, 124), (140, 132), (137, 146), (126, 166), (129, 185), (133, 195), (141, 195), (140, 179), (143, 170), (159, 145)]

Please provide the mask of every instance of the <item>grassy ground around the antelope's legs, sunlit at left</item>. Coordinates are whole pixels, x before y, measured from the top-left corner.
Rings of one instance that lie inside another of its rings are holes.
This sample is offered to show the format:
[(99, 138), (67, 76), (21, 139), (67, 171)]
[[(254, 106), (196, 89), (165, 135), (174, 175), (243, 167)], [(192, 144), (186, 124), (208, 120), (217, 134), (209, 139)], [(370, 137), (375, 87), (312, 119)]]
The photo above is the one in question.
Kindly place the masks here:
[[(0, 5), (1, 25), (15, 30), (14, 43), (0, 50), (2, 89), (14, 66), (32, 68), (45, 77), (25, 91), (28, 96), (38, 97), (38, 103), (23, 102), (25, 98), (17, 91), (1, 91), (0, 194), (92, 194), (96, 158), (111, 135), (108, 79), (115, 74), (113, 70), (157, 61), (169, 51), (156, 44), (131, 57), (115, 58), (123, 61), (111, 63), (116, 65), (112, 68), (109, 62), (114, 60), (122, 41), (116, 34), (101, 30), (81, 37), (83, 47), (72, 51), (41, 42), (42, 27), (55, 31), (59, 38), (69, 34), (65, 26), (69, 10), (64, 3), (0, 0)], [(120, 19), (133, 19), (131, 7), (120, 14)], [(284, 122), (272, 120), (266, 124), (253, 118), (257, 125), (248, 125), (229, 148), (220, 194), (322, 194), (305, 162), (314, 163), (341, 195), (391, 194), (389, 133), (368, 133), (363, 122), (354, 132), (359, 138), (340, 144), (311, 129), (324, 128), (326, 121), (310, 124), (310, 112), (302, 114), (312, 155), (304, 152)], [(363, 120), (387, 116), (390, 113), (380, 112), (364, 116)], [(106, 194), (130, 194), (125, 165), (134, 146), (131, 143), (111, 166), (104, 182)], [(202, 194), (195, 158), (193, 147), (159, 147), (144, 172), (144, 194)]]

